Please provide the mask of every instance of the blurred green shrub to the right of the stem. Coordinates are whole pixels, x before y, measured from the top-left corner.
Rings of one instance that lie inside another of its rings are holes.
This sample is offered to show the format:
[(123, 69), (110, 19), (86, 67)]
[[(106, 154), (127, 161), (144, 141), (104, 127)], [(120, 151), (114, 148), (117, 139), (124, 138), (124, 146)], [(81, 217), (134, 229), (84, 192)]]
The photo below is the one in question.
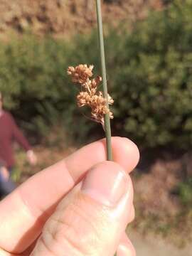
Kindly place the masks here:
[(191, 145), (191, 30), (192, 2), (174, 1), (124, 31), (112, 49), (114, 126), (139, 144)]

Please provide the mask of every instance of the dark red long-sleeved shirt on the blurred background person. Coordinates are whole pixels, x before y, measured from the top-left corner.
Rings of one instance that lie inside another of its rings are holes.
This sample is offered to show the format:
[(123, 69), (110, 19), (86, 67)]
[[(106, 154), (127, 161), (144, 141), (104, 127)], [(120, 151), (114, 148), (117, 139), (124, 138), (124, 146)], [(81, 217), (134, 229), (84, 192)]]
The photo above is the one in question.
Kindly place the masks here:
[(14, 118), (8, 112), (0, 116), (0, 159), (8, 168), (14, 166), (13, 142), (16, 141), (28, 151), (31, 146), (16, 125)]

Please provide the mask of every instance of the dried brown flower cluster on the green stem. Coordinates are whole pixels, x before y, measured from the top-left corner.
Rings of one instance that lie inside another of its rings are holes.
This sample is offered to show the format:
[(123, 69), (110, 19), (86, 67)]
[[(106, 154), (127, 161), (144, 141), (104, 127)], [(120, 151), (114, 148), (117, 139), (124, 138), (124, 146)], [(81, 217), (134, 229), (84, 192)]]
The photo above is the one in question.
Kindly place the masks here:
[[(90, 107), (91, 117), (95, 122), (100, 122), (104, 126), (105, 114), (110, 114), (110, 119), (113, 118), (112, 112), (107, 107), (107, 100), (102, 92), (97, 91), (98, 85), (102, 82), (102, 78), (92, 78), (93, 65), (87, 66), (78, 65), (77, 67), (69, 67), (68, 75), (71, 76), (72, 81), (81, 85), (82, 90), (77, 96), (79, 107)], [(91, 79), (92, 78), (92, 79)], [(108, 95), (108, 104), (112, 105), (114, 100)]]

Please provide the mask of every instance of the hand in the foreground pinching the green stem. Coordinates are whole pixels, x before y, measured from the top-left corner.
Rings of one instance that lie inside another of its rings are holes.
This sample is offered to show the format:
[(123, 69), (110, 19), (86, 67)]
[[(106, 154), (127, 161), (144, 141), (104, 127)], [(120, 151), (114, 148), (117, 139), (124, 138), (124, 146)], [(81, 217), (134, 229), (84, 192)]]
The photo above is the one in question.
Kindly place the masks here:
[[(129, 172), (139, 159), (128, 139), (83, 147), (29, 178), (0, 203), (0, 255), (135, 255), (124, 230), (134, 218)], [(126, 172), (125, 172), (126, 171)]]

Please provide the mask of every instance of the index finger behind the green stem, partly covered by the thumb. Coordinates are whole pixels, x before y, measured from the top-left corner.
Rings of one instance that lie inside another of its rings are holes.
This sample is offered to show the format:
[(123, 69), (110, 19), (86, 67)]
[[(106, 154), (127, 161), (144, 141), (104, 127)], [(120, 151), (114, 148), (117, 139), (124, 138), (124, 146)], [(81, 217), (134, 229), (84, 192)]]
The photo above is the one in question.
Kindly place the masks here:
[[(139, 151), (129, 139), (112, 138), (114, 161), (127, 171), (137, 165)], [(41, 171), (0, 203), (0, 247), (21, 253), (38, 238), (63, 196), (93, 165), (106, 160), (105, 140), (94, 142)]]

